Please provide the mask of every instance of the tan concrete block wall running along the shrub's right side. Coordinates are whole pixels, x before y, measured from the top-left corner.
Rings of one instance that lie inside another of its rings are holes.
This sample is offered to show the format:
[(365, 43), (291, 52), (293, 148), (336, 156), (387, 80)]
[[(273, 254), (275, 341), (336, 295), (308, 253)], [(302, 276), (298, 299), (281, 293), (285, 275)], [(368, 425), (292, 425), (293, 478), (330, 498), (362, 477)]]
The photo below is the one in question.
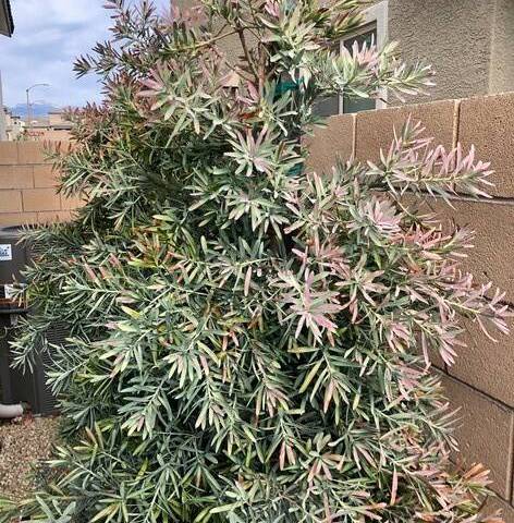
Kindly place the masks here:
[[(453, 209), (431, 197), (426, 205), (442, 220), (475, 230), (469, 270), (478, 280), (492, 280), (514, 304), (514, 93), (333, 117), (307, 141), (310, 169), (330, 170), (338, 155), (378, 160), (380, 148), (389, 148), (393, 129), (400, 130), (409, 115), (420, 120), (425, 134), (437, 143), (446, 148), (474, 144), (477, 157), (492, 162), (491, 199), (460, 194)], [(488, 508), (503, 509), (505, 522), (514, 523), (514, 331), (494, 343), (474, 325), (466, 330), (468, 346), (457, 362), (446, 367), (435, 358), (433, 364), (452, 405), (461, 409), (458, 460), (490, 469), (495, 496), (487, 500)]]

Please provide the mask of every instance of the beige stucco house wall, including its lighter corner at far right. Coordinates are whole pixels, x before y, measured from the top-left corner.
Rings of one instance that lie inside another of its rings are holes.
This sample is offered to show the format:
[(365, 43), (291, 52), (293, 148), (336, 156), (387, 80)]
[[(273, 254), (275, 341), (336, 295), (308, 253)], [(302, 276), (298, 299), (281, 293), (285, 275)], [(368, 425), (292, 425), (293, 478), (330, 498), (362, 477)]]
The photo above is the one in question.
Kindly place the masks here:
[[(197, 1), (178, 4), (191, 7)], [(430, 99), (514, 88), (514, 0), (389, 0), (388, 13), (389, 39), (400, 42), (402, 58), (433, 66), (437, 85)], [(237, 38), (224, 49), (235, 60), (241, 52)]]

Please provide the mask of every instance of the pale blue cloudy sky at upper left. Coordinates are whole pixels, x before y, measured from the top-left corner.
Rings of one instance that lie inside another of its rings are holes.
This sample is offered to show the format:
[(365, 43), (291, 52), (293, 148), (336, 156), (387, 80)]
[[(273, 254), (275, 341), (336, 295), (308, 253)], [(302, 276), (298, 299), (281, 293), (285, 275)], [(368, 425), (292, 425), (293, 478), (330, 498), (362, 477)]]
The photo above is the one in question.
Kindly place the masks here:
[[(156, 0), (156, 3), (164, 5), (168, 1)], [(108, 37), (112, 12), (105, 10), (103, 3), (103, 0), (11, 0), (14, 35), (0, 36), (0, 72), (7, 106), (25, 104), (25, 89), (38, 83), (51, 85), (30, 90), (33, 102), (66, 107), (100, 100), (95, 76), (76, 80), (73, 62)]]

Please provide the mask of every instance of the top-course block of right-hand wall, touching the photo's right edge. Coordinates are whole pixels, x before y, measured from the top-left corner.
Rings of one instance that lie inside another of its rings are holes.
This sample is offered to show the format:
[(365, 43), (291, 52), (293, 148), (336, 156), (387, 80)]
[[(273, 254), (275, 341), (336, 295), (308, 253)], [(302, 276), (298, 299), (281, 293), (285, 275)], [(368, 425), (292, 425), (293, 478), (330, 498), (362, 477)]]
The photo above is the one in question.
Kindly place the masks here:
[(491, 161), (495, 196), (514, 196), (514, 94), (469, 98), (461, 102), (458, 141), (474, 144), (477, 157)]

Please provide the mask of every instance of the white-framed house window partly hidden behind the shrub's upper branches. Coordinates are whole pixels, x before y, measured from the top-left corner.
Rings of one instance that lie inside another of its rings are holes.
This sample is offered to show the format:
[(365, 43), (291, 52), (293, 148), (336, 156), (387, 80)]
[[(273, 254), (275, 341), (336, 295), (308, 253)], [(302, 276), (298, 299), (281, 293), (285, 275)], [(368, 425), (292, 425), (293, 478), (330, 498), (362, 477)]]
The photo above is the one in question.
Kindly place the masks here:
[[(356, 41), (360, 47), (363, 44), (375, 44), (381, 48), (388, 40), (388, 0), (383, 0), (368, 8), (365, 12), (365, 23), (359, 31), (341, 41), (343, 46), (352, 50)], [(383, 98), (386, 94), (383, 95)], [(346, 98), (343, 96), (332, 96), (319, 100), (315, 111), (320, 117), (331, 117), (333, 114), (353, 113), (367, 111), (383, 107), (383, 101), (369, 98)]]

